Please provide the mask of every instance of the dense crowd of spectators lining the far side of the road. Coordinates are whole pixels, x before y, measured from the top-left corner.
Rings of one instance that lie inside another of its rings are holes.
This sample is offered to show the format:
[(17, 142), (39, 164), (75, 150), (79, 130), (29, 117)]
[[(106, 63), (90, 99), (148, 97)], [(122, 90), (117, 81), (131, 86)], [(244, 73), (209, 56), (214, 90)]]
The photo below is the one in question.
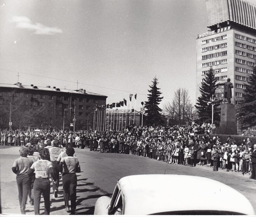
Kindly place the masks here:
[(236, 144), (231, 136), (221, 141), (219, 136), (212, 136), (215, 128), (214, 124), (203, 123), (172, 127), (128, 125), (122, 131), (101, 132), (1, 131), (0, 141), (1, 145), (23, 146), (36, 138), (38, 144), (47, 146), (50, 141), (59, 140), (63, 146), (70, 143), (74, 148), (101, 153), (131, 154), (171, 164), (205, 165), (213, 167), (213, 171), (225, 169), (250, 174), (254, 144), (249, 138)]

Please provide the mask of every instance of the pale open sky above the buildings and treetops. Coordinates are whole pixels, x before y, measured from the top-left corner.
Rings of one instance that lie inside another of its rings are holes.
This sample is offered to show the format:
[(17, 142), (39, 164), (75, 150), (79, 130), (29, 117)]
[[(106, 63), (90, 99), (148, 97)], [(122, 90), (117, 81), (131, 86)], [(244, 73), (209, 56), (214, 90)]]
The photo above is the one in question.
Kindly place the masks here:
[(206, 31), (205, 0), (0, 0), (0, 83), (83, 88), (107, 103), (137, 93), (140, 110), (157, 77), (161, 108), (178, 88), (195, 104)]

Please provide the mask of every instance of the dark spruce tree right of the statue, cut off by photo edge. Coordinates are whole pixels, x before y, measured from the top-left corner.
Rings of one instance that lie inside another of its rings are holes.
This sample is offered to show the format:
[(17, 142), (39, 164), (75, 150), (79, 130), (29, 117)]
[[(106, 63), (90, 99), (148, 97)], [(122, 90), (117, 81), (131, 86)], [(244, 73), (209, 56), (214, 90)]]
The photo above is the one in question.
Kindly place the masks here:
[(241, 101), (237, 116), (242, 129), (255, 127), (256, 125), (256, 63), (252, 74), (249, 76), (248, 84), (245, 85), (243, 94), (244, 100)]

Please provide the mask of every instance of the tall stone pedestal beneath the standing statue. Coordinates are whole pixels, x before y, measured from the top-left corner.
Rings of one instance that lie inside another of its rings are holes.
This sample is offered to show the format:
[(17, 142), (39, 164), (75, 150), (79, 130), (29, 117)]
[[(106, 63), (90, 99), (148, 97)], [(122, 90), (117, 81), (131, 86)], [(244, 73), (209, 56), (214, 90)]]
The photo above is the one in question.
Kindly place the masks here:
[(225, 103), (221, 106), (220, 133), (237, 135), (236, 110), (231, 103)]

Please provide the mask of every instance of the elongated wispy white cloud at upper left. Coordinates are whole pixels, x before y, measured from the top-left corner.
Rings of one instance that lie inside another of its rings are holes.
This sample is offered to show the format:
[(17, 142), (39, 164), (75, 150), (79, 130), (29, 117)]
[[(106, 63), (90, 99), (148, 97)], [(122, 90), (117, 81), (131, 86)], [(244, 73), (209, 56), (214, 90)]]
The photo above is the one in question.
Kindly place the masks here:
[(33, 24), (28, 17), (13, 16), (12, 22), (16, 23), (17, 28), (34, 31), (34, 34), (37, 35), (54, 35), (57, 33), (62, 33), (62, 30), (58, 29), (57, 27), (48, 27), (40, 23)]

